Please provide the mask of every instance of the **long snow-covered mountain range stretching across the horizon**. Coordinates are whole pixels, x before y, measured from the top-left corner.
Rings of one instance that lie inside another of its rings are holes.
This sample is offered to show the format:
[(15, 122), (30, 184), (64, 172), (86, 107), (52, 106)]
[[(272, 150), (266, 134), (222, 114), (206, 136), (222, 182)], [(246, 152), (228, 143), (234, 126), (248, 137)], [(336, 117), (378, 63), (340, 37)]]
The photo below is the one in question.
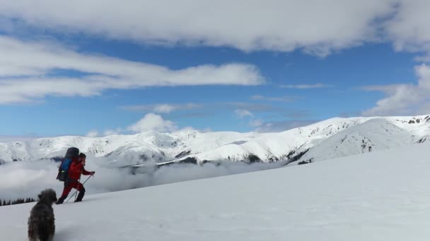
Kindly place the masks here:
[(332, 118), (276, 133), (142, 132), (108, 137), (64, 136), (0, 143), (0, 163), (55, 159), (68, 147), (105, 156), (113, 166), (180, 161), (321, 161), (430, 140), (430, 116)]

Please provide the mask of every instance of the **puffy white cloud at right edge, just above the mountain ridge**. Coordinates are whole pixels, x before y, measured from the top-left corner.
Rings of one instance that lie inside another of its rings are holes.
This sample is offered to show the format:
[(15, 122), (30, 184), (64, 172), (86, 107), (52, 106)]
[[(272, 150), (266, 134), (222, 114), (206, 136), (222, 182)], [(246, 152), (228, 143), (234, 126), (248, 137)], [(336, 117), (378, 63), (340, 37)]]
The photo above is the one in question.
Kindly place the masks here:
[(363, 111), (364, 116), (395, 116), (426, 113), (430, 95), (430, 67), (416, 66), (419, 78), (417, 85), (385, 85), (365, 87), (367, 90), (385, 92), (387, 97), (380, 99), (376, 106)]

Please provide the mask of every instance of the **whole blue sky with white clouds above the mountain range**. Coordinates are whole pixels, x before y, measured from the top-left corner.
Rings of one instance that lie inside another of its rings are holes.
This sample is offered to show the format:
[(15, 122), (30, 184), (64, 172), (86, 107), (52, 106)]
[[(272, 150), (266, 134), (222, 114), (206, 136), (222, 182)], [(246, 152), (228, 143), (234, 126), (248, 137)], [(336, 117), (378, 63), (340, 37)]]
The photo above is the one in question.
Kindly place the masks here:
[[(187, 2), (211, 9), (210, 1)], [(32, 14), (6, 4), (0, 8), (0, 135), (270, 132), (337, 116), (426, 114), (430, 28), (405, 18), (421, 6), (393, 2), (351, 1), (342, 11), (357, 16), (341, 15), (342, 23), (328, 19), (337, 11), (321, 9), (322, 20), (302, 20), (301, 31), (286, 24), (284, 13), (277, 16), (271, 1), (267, 17), (282, 18), (275, 26), (254, 20), (253, 8), (241, 12), (247, 23), (187, 16), (186, 6), (169, 10), (183, 18), (154, 13), (118, 22), (124, 16), (112, 10), (115, 3), (92, 9), (96, 20), (81, 10), (86, 1), (69, 6), (79, 9), (79, 19), (54, 1), (41, 1), (51, 10)], [(146, 9), (144, 1), (129, 5), (120, 11)], [(237, 5), (231, 8), (243, 8)], [(178, 25), (190, 23), (186, 17), (202, 26)], [(369, 21), (381, 17), (385, 22)]]

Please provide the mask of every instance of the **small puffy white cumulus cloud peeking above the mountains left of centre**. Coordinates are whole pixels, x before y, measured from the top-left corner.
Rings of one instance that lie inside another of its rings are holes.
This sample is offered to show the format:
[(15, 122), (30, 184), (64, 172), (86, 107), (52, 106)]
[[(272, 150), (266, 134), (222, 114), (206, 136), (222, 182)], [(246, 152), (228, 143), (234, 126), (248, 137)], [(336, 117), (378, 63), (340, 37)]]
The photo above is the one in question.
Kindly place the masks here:
[(148, 113), (144, 118), (141, 118), (137, 123), (130, 125), (127, 130), (132, 132), (146, 132), (154, 130), (156, 132), (173, 132), (178, 127), (172, 121), (166, 121), (163, 117), (154, 113)]

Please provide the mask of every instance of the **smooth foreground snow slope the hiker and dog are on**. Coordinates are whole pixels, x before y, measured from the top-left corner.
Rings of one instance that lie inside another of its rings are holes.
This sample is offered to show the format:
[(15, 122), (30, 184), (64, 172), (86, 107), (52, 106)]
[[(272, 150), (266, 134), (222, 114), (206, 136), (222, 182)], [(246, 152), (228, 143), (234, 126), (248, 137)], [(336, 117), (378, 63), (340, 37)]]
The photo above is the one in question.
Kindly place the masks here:
[[(54, 206), (56, 240), (429, 240), (429, 149), (89, 195)], [(0, 240), (32, 206), (0, 207)]]

